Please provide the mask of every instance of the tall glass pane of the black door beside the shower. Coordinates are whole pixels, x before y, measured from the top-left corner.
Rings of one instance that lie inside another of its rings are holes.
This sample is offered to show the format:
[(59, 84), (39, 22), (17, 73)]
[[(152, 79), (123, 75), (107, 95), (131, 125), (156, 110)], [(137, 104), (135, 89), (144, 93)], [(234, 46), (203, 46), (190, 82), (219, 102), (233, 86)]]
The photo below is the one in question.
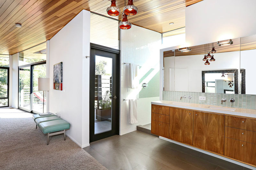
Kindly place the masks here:
[(95, 56), (94, 134), (111, 130), (113, 59)]

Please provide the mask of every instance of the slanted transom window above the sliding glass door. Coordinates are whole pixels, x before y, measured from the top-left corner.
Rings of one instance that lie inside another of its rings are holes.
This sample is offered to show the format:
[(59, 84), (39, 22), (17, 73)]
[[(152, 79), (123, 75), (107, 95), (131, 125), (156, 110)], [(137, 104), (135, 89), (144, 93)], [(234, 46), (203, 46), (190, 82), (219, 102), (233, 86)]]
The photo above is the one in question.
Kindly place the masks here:
[(46, 60), (46, 42), (19, 52), (19, 57)]

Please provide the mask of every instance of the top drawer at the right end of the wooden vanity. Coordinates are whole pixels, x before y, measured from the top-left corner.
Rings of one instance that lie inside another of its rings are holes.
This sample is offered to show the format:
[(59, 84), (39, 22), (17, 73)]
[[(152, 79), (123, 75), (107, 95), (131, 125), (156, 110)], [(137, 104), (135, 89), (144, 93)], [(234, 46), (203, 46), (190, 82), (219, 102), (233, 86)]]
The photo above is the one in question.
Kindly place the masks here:
[(235, 117), (235, 116), (225, 116), (225, 126), (256, 131), (256, 120), (243, 118), (243, 117)]

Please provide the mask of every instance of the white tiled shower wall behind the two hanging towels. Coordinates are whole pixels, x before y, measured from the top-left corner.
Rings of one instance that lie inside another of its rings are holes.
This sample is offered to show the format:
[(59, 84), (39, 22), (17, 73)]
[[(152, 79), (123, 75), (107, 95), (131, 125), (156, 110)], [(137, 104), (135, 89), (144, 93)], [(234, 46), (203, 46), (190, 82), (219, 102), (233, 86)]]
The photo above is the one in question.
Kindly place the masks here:
[(159, 50), (161, 46), (161, 34), (139, 26), (132, 26), (129, 30), (121, 30), (121, 93), (120, 93), (120, 135), (136, 130), (137, 125), (144, 125), (151, 122), (151, 101), (159, 100), (159, 97), (142, 98), (138, 100), (138, 123), (128, 124), (128, 100), (138, 98), (142, 85), (137, 90), (125, 86), (125, 73), (128, 65), (133, 63), (141, 66), (139, 76), (143, 77), (150, 69), (154, 68), (144, 82), (148, 82), (156, 74), (159, 74)]

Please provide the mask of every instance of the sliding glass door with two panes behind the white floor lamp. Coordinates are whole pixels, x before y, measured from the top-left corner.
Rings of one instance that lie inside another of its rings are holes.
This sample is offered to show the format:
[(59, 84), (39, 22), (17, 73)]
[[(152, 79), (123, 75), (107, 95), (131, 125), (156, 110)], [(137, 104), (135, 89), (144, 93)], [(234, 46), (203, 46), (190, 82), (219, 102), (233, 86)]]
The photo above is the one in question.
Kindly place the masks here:
[[(42, 113), (46, 93), (38, 91), (38, 78), (46, 77), (46, 63), (37, 62), (19, 66), (19, 108), (31, 113)], [(43, 100), (44, 99), (44, 100)], [(44, 107), (44, 112), (46, 107)]]

